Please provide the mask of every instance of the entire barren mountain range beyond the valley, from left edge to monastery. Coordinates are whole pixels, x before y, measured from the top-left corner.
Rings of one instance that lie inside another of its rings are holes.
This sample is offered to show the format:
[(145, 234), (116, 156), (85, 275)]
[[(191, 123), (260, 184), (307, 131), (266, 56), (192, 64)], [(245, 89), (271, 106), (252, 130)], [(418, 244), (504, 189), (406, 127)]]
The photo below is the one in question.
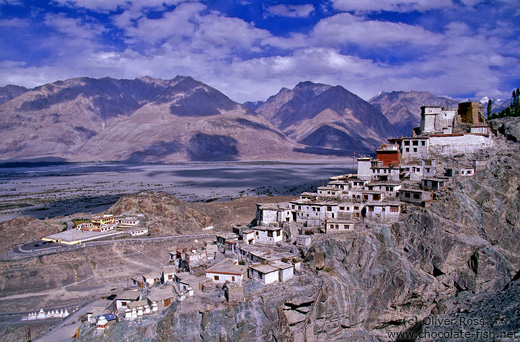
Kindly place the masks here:
[(301, 82), (240, 104), (189, 76), (73, 78), (0, 88), (2, 161), (291, 160), (370, 153), (408, 135), (426, 92), (368, 102), (341, 86)]

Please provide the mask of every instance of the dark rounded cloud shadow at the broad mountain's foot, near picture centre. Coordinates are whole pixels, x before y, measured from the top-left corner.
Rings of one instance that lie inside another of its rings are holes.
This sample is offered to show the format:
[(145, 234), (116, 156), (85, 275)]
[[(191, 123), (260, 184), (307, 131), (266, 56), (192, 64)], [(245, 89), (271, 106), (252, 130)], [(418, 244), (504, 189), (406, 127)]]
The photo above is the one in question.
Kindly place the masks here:
[(234, 138), (204, 133), (191, 137), (186, 152), (193, 161), (233, 161), (239, 155)]

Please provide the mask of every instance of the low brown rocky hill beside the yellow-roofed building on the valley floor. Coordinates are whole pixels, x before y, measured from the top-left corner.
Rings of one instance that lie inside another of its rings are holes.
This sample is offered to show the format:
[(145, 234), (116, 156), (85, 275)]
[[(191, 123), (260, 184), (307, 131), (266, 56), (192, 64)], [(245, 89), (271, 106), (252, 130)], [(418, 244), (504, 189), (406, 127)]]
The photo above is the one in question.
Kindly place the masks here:
[(143, 192), (121, 197), (106, 213), (144, 214), (149, 218), (146, 226), (152, 235), (200, 233), (203, 228), (213, 225), (209, 216), (165, 193)]

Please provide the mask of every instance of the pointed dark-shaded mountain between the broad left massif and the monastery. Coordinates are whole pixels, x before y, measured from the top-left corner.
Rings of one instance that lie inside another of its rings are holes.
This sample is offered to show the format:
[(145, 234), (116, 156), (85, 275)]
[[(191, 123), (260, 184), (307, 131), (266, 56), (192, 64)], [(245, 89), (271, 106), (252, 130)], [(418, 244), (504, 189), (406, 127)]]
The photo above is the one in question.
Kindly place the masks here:
[(283, 88), (256, 111), (306, 145), (302, 152), (370, 152), (395, 136), (379, 110), (341, 86), (301, 82), (291, 90)]

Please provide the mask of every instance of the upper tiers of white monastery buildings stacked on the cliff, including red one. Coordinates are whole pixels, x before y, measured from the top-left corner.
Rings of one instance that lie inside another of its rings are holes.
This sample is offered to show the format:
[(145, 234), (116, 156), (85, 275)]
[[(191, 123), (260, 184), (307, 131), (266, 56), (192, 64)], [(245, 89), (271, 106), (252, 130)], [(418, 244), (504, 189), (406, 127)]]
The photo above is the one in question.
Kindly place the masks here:
[(357, 174), (331, 177), (315, 193), (257, 204), (256, 222), (266, 230), (296, 225), (300, 234), (349, 231), (364, 220), (394, 222), (409, 205), (428, 206), (434, 191), (454, 177), (485, 168), (480, 160), (446, 165), (436, 157), (472, 154), (492, 144), (480, 103), (460, 103), (458, 109), (423, 106), (413, 136), (389, 139), (375, 158), (357, 158)]

